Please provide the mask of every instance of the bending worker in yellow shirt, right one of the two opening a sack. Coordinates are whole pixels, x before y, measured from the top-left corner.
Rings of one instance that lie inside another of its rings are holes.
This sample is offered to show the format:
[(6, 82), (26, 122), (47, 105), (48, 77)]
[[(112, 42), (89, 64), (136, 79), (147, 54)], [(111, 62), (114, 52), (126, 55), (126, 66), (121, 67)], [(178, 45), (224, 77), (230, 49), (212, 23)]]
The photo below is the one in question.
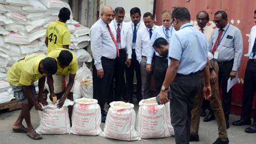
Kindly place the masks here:
[[(58, 71), (53, 76), (47, 77), (50, 93), (54, 92), (57, 99), (60, 99), (58, 107), (61, 108), (66, 98), (73, 100), (74, 77), (78, 70), (76, 56), (70, 50), (56, 48), (48, 54), (48, 57), (54, 58), (58, 64)], [(66, 89), (63, 93), (63, 76), (65, 76)], [(52, 99), (52, 96), (50, 98)], [(69, 118), (72, 116), (72, 106), (68, 107)]]

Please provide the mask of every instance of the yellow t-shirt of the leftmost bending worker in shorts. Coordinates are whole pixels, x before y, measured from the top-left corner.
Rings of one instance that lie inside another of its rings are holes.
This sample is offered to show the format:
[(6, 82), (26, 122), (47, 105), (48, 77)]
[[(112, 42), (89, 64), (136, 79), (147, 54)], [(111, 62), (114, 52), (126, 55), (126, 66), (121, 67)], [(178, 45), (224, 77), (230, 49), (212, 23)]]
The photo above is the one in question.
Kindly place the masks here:
[(14, 86), (33, 85), (35, 81), (46, 76), (39, 72), (39, 64), (45, 55), (31, 54), (16, 62), (7, 72), (7, 81)]

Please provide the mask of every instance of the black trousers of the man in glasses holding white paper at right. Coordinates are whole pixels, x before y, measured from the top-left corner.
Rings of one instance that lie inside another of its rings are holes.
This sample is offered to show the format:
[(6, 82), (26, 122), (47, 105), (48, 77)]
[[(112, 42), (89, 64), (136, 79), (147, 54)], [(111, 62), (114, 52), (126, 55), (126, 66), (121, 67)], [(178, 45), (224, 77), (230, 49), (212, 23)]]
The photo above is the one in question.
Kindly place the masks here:
[(231, 109), (231, 96), (232, 96), (232, 88), (227, 92), (228, 80), (230, 78), (230, 72), (232, 71), (234, 59), (218, 62), (219, 65), (219, 86), (222, 85), (222, 107), (224, 111), (224, 116), (226, 123), (229, 122), (229, 114)]

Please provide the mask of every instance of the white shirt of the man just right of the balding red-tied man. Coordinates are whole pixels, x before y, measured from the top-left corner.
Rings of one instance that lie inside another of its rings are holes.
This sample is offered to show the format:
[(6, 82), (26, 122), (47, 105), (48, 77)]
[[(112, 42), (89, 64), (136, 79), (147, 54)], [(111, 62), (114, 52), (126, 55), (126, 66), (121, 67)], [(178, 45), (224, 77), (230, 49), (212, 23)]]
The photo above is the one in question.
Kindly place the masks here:
[[(111, 31), (115, 37), (116, 40), (116, 33), (117, 33), (117, 25), (118, 22), (116, 20), (112, 20), (112, 22), (109, 24)], [(128, 55), (128, 59), (132, 58), (132, 41), (131, 39), (131, 33), (128, 29), (128, 25), (126, 22), (122, 22), (120, 23), (120, 34), (121, 34), (121, 47), (119, 47), (119, 49), (124, 49), (126, 48), (126, 52)]]

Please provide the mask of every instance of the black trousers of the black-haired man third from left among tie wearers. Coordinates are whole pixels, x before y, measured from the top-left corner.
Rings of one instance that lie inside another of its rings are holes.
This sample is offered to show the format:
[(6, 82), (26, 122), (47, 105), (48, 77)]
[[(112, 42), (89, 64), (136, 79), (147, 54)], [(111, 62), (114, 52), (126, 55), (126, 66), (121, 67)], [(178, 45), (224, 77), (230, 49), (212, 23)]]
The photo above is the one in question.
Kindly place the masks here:
[(134, 70), (136, 72), (137, 79), (137, 100), (142, 99), (141, 95), (141, 65), (136, 59), (135, 49), (132, 50), (132, 64), (130, 67), (126, 66), (125, 75), (126, 75), (126, 91), (127, 97), (129, 100), (133, 98), (133, 79), (134, 79)]

